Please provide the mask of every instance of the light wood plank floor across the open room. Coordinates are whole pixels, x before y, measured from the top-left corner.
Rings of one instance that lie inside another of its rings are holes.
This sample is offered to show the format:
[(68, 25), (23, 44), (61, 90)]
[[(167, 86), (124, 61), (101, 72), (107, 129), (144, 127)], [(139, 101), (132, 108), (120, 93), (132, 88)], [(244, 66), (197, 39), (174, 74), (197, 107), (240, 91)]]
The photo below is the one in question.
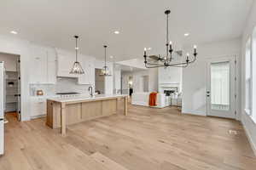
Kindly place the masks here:
[[(240, 122), (184, 116), (177, 108), (129, 105), (129, 116), (110, 116), (67, 128), (44, 118), (16, 122), (9, 114), (1, 170), (255, 170)], [(229, 133), (235, 130), (237, 134)]]

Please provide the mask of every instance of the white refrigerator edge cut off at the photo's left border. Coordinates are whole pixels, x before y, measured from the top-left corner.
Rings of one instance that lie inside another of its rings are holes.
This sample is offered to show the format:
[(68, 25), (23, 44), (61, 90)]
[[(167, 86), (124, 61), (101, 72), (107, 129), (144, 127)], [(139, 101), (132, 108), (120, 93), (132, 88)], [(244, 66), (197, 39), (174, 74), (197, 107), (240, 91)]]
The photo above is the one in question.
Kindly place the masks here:
[(0, 61), (0, 155), (4, 153), (5, 69)]

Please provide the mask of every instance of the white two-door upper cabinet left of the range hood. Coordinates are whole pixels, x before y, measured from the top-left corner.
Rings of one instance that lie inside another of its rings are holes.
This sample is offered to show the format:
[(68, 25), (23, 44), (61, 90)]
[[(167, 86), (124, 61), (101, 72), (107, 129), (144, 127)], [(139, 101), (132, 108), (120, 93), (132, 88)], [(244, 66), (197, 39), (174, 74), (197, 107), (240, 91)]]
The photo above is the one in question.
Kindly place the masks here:
[(30, 48), (30, 83), (56, 82), (56, 55), (54, 48), (32, 45)]

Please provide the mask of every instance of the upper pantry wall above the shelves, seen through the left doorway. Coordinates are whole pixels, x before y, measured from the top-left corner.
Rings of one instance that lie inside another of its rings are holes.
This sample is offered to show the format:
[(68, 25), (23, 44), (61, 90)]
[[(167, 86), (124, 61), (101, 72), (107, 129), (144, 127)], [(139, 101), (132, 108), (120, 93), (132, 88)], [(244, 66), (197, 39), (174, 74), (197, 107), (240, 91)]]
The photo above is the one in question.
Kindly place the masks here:
[(0, 53), (0, 61), (4, 61), (6, 71), (17, 71), (18, 57), (18, 55)]

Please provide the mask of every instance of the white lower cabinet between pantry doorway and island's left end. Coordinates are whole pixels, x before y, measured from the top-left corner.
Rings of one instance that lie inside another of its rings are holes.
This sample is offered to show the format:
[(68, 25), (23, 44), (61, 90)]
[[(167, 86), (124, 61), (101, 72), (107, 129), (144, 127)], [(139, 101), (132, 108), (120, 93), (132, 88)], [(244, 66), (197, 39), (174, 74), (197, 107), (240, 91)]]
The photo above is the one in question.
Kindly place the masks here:
[(46, 97), (31, 97), (30, 99), (31, 118), (46, 115)]

